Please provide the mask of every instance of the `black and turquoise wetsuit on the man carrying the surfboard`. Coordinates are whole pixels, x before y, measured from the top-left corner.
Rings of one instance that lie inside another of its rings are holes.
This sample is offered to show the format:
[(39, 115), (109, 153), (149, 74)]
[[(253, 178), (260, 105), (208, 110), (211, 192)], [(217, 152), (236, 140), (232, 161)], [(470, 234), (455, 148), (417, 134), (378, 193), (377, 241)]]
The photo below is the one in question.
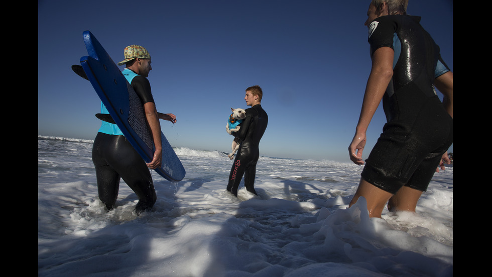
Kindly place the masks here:
[[(154, 103), (147, 78), (128, 68), (122, 73), (135, 89), (142, 105)], [(102, 104), (101, 113), (108, 113)], [(116, 203), (120, 178), (123, 178), (139, 198), (135, 207), (138, 214), (154, 206), (157, 196), (149, 168), (116, 124), (102, 121), (92, 147), (92, 162), (96, 169), (99, 199), (108, 210), (113, 209)]]

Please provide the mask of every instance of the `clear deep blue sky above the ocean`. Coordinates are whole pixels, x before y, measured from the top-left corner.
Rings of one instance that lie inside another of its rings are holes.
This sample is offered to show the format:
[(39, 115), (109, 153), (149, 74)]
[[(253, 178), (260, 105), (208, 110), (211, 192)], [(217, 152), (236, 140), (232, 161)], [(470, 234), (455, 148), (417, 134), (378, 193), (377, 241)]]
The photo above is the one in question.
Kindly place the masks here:
[[(408, 13), (422, 16), (452, 70), (452, 0), (409, 2)], [(258, 84), (269, 115), (262, 155), (350, 161), (371, 69), (363, 25), (369, 3), (39, 0), (38, 135), (97, 133), (100, 100), (70, 68), (87, 55), (82, 33), (89, 30), (115, 63), (128, 45), (147, 48), (156, 106), (177, 116), (175, 125), (161, 121), (172, 146), (230, 151), (230, 108), (249, 108), (244, 90)], [(380, 106), (363, 158), (384, 123)]]

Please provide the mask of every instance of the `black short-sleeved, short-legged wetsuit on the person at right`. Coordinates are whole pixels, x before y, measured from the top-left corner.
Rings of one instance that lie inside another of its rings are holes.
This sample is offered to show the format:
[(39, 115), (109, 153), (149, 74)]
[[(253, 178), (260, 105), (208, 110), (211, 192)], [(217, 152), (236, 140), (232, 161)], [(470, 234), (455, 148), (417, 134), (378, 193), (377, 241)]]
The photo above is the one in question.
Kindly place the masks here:
[(453, 142), (453, 119), (433, 86), (449, 69), (419, 22), (420, 17), (394, 15), (379, 17), (370, 26), (371, 55), (391, 47), (395, 57), (383, 97), (387, 123), (361, 176), (392, 194), (402, 186), (426, 191)]

